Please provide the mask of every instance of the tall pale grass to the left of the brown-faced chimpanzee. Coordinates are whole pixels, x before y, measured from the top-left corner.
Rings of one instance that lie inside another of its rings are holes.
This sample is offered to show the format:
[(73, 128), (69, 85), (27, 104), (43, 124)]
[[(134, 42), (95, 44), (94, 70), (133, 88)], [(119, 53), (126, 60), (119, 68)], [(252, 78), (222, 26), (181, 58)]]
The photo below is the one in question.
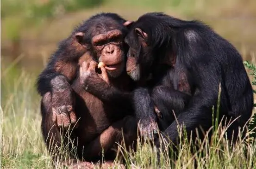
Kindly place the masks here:
[(45, 159), (49, 157), (40, 133), (41, 115), (34, 89), (35, 78), (14, 68), (5, 76), (4, 72), (1, 71), (1, 167), (46, 166)]

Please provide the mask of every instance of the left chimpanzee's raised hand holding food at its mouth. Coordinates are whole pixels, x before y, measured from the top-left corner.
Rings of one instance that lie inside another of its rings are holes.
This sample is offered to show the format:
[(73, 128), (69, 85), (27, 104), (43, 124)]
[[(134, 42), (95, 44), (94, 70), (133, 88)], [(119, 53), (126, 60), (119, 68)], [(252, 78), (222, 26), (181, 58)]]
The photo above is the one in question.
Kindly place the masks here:
[(103, 66), (100, 67), (101, 74), (99, 75), (96, 72), (96, 69), (97, 69), (96, 66), (97, 66), (97, 63), (95, 61), (91, 61), (90, 63), (83, 62), (82, 65), (80, 66), (80, 82), (85, 89), (87, 89), (89, 85), (93, 85), (96, 82), (101, 82), (101, 79), (103, 79), (106, 83), (109, 83), (106, 69)]

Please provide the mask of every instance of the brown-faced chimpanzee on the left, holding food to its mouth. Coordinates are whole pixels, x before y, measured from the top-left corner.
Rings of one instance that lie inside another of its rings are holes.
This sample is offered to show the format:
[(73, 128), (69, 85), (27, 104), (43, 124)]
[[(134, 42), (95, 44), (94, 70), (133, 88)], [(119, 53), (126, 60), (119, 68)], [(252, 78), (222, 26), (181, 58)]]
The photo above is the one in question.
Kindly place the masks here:
[[(125, 72), (128, 29), (124, 23), (114, 13), (90, 17), (60, 43), (39, 75), (42, 133), (55, 160), (61, 158), (61, 146), (75, 146), (67, 154), (91, 167), (88, 162), (102, 159), (102, 149), (106, 160), (115, 157), (112, 148), (122, 140), (122, 130), (126, 145), (136, 140), (137, 121), (126, 101), (130, 95), (112, 94), (133, 89)], [(99, 62), (105, 66), (97, 69)]]

